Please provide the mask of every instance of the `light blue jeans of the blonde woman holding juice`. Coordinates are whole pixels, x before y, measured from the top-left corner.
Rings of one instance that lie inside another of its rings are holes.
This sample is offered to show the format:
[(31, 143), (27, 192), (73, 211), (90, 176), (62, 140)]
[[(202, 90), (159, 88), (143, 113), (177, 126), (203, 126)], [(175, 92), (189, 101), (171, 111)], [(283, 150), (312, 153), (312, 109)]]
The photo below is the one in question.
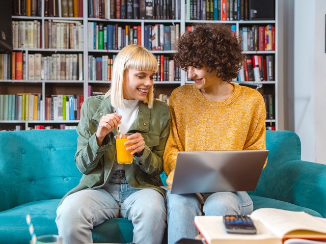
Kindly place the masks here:
[(164, 197), (154, 189), (135, 189), (124, 171), (98, 189), (84, 189), (69, 195), (57, 209), (56, 223), (63, 244), (93, 243), (94, 226), (112, 218), (133, 224), (133, 243), (160, 244), (166, 228)]

